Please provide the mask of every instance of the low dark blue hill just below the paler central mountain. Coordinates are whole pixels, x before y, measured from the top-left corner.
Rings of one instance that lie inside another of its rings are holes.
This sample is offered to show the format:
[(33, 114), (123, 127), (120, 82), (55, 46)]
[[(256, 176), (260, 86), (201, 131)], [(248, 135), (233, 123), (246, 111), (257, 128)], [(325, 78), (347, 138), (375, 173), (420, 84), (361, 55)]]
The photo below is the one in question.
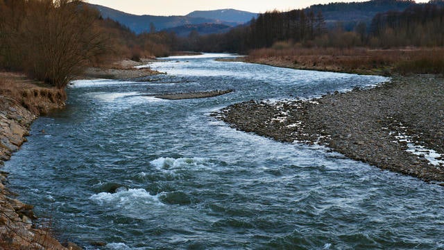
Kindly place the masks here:
[(191, 31), (197, 31), (199, 35), (207, 35), (214, 33), (225, 33), (232, 29), (232, 26), (225, 24), (186, 24), (173, 28), (166, 28), (164, 31), (174, 32), (181, 37), (187, 37)]

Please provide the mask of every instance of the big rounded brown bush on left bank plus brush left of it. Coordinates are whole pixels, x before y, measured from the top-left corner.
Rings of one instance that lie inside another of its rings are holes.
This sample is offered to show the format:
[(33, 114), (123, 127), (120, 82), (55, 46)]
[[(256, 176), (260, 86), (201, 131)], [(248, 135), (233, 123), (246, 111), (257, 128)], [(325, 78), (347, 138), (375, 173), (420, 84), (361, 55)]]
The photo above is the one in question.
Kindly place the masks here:
[(1, 1), (1, 65), (65, 88), (107, 49), (98, 12), (78, 2)]

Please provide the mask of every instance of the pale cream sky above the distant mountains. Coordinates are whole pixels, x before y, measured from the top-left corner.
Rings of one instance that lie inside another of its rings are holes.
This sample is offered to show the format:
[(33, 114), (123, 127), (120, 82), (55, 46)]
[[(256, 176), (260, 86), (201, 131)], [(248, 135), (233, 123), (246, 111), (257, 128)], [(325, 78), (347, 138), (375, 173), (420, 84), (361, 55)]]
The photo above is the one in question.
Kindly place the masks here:
[[(317, 3), (337, 1), (341, 0), (87, 0), (89, 3), (107, 6), (135, 15), (187, 15), (194, 10), (219, 10), (224, 8), (259, 13), (274, 9), (300, 9)], [(416, 2), (426, 1), (428, 0)]]

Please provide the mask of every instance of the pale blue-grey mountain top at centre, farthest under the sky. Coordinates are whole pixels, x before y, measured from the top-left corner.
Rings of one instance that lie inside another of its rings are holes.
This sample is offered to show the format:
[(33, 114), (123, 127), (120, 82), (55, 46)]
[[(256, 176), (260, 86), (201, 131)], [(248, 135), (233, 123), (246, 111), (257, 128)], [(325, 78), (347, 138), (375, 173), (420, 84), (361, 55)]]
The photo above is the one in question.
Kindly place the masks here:
[(257, 17), (257, 13), (224, 9), (224, 10), (196, 10), (187, 15), (187, 17), (201, 17), (208, 19), (216, 19), (222, 22), (236, 22), (237, 24), (245, 24), (250, 22), (253, 17)]

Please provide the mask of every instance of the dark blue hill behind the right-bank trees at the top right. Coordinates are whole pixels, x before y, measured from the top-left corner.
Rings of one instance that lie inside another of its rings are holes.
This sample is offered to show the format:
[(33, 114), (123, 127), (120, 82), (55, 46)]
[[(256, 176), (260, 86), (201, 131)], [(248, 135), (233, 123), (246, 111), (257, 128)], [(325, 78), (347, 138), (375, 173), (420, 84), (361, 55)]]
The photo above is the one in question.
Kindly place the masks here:
[(377, 13), (388, 11), (402, 11), (416, 5), (409, 0), (372, 0), (352, 3), (316, 4), (306, 8), (307, 12), (321, 11), (327, 27), (332, 28), (341, 22), (345, 30), (350, 31), (358, 22), (370, 24)]

